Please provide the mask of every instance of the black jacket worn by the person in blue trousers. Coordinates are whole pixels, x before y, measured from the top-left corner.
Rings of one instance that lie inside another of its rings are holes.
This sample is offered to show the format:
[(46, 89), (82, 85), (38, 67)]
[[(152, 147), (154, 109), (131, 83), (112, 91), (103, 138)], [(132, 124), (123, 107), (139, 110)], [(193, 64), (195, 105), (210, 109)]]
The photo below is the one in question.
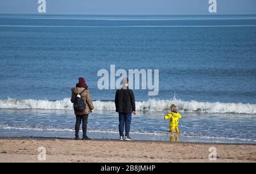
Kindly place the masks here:
[(118, 113), (132, 113), (136, 111), (133, 90), (117, 89), (115, 93), (115, 111)]

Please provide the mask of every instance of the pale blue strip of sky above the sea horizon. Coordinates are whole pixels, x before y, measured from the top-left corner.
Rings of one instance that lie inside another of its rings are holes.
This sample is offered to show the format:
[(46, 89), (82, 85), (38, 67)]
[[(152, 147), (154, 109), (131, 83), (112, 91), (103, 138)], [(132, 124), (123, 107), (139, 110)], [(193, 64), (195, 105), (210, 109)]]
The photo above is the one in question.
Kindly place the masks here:
[[(46, 14), (210, 14), (209, 0), (46, 0)], [(215, 14), (256, 14), (256, 0), (216, 0)], [(0, 14), (39, 14), (38, 0), (0, 0)]]

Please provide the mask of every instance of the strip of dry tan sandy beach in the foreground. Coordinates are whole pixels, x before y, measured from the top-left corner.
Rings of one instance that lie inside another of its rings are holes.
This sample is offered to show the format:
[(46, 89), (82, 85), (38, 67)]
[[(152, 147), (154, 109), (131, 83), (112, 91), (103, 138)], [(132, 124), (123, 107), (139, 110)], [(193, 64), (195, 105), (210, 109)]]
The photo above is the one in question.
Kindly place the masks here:
[[(38, 148), (46, 148), (46, 161)], [(255, 145), (1, 138), (0, 162), (256, 162)], [(217, 160), (209, 161), (216, 147)]]

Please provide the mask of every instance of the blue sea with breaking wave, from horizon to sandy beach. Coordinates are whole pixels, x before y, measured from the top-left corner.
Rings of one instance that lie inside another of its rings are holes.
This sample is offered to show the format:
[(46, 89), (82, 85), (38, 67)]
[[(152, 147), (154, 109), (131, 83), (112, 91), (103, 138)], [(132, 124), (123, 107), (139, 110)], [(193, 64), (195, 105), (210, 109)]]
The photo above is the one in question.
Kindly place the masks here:
[[(134, 90), (132, 138), (256, 144), (256, 15), (1, 14), (0, 41), (0, 136), (73, 138), (71, 88), (84, 77), (88, 136), (119, 138), (115, 89), (97, 86), (115, 65), (159, 70), (158, 95)], [(179, 135), (163, 119), (171, 103)]]

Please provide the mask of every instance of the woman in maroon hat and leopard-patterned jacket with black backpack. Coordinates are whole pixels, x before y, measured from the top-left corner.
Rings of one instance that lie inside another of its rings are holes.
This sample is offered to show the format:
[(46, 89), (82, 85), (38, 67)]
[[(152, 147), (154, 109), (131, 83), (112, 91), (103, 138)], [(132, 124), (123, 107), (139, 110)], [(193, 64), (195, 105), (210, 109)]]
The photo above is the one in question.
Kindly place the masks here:
[(82, 140), (90, 140), (88, 136), (86, 135), (86, 130), (87, 130), (87, 120), (88, 120), (88, 115), (89, 113), (93, 112), (94, 106), (93, 102), (90, 99), (90, 93), (88, 90), (88, 86), (85, 83), (84, 78), (80, 77), (79, 78), (79, 83), (76, 84), (76, 88), (72, 88), (72, 97), (71, 97), (71, 102), (75, 102), (75, 98), (77, 94), (80, 94), (82, 100), (85, 102), (85, 110), (83, 111), (75, 111), (76, 115), (76, 140), (79, 139), (79, 130), (80, 130), (80, 124), (82, 121)]

